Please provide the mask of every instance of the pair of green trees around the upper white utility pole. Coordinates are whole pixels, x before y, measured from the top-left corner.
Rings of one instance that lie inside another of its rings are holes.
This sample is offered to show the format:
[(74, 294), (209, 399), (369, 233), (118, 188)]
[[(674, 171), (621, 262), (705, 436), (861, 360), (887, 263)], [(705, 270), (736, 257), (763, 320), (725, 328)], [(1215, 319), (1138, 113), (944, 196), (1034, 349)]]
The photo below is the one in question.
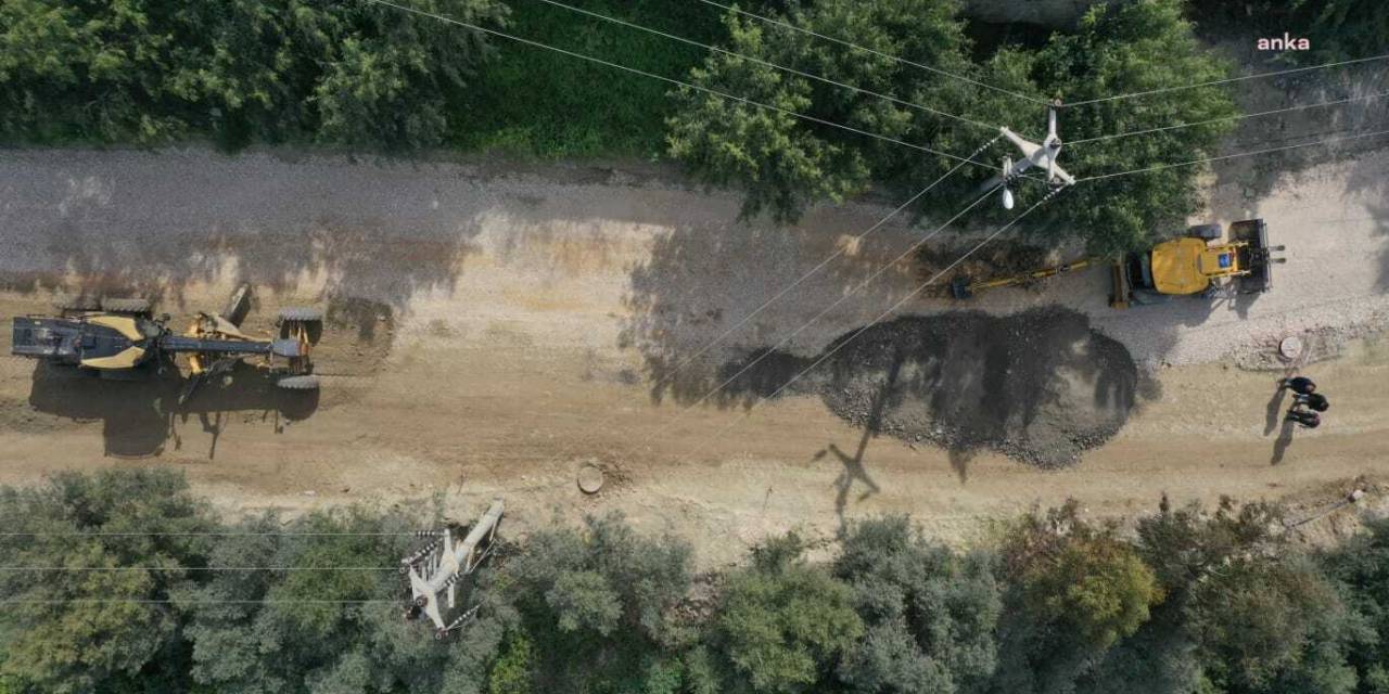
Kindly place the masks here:
[[(767, 211), (781, 221), (795, 219), (813, 203), (838, 201), (874, 183), (914, 193), (957, 161), (788, 111), (957, 157), (968, 157), (989, 142), (997, 135), (997, 125), (1040, 140), (1045, 108), (1038, 101), (1079, 103), (1226, 76), (1228, 65), (1195, 39), (1181, 11), (1179, 0), (1100, 3), (1074, 32), (1057, 33), (1040, 49), (1004, 46), (983, 62), (971, 61), (954, 0), (788, 3), (781, 17), (807, 32), (851, 36), (854, 43), (876, 53), (854, 51), (804, 32), (729, 15), (731, 50), (764, 62), (715, 54), (692, 71), (690, 79), (781, 111), (681, 89), (675, 96), (682, 107), (669, 119), (671, 153), (708, 183), (745, 187), (745, 214)], [(881, 54), (1022, 96), (989, 90)], [(790, 65), (901, 101), (788, 74), (768, 64)], [(1063, 151), (1063, 160), (1079, 178), (1199, 160), (1211, 155), (1231, 129), (1232, 122), (1221, 118), (1236, 114), (1229, 96), (1214, 86), (1186, 90), (1182, 99), (1078, 104), (1061, 111), (1063, 140), (1176, 124), (1203, 125), (1075, 142)], [(995, 162), (1004, 153), (1015, 154), (999, 146), (976, 158), (986, 165), (965, 164), (957, 178), (946, 179), (922, 198), (920, 211), (949, 215), (963, 208), (996, 174)], [(1067, 193), (1064, 204), (1043, 208), (1036, 226), (1047, 229), (1053, 239), (1081, 236), (1096, 253), (1135, 248), (1171, 232), (1170, 226), (1179, 225), (1195, 210), (1197, 174), (1199, 168), (1176, 167), (1078, 186)], [(1039, 200), (1043, 193), (1040, 185), (1029, 182), (1020, 187), (1020, 204)]]

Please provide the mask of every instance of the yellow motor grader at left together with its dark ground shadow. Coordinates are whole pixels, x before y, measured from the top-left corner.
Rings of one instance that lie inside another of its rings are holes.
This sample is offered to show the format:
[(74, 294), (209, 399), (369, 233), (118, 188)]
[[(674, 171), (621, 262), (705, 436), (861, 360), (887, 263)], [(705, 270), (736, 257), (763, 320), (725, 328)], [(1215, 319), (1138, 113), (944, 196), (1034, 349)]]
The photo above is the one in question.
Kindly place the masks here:
[(69, 300), (57, 316), (15, 318), (13, 353), (39, 361), (29, 404), (101, 421), (107, 455), (158, 455), (171, 439), (179, 447), (179, 425), (196, 416), (213, 434), (211, 457), (229, 412), (260, 411), (278, 430), (318, 407), (318, 311), (283, 310), (278, 336), (254, 336), (240, 328), (249, 310), (243, 286), (224, 312), (174, 333), (143, 300)]

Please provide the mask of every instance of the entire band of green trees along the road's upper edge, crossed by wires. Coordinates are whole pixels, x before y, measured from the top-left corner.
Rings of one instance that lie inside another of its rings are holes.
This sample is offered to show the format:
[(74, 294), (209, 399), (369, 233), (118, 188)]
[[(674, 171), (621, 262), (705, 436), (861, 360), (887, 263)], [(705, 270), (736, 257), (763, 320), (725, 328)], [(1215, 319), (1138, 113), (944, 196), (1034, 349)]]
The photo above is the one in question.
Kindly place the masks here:
[[(426, 0), (410, 7), (960, 157), (995, 137), (997, 125), (1040, 139), (1042, 103), (1051, 99), (1075, 103), (1231, 74), (1231, 65), (1193, 37), (1181, 0), (1099, 4), (1072, 32), (1042, 40), (1024, 33), (1024, 43), (992, 44), (970, 37), (958, 0), (747, 6), (1040, 103), (701, 3), (572, 4), (899, 101), (542, 0)], [(1232, 125), (1221, 118), (1236, 114), (1229, 96), (1214, 86), (1175, 99), (1067, 108), (1061, 135), (1074, 144), (1064, 161), (1088, 176), (1199, 160), (1215, 154)], [(397, 153), (446, 147), (544, 158), (672, 157), (699, 180), (745, 190), (745, 214), (776, 222), (872, 187), (906, 197), (954, 165), (926, 151), (364, 1), (0, 3), (0, 140), (189, 139), (228, 149), (313, 143)], [(965, 165), (922, 198), (917, 212), (947, 217), (961, 208), (1006, 153), (1001, 144), (982, 151), (978, 160), (986, 167)], [(1100, 254), (1140, 247), (1193, 211), (1199, 174), (1200, 167), (1178, 167), (1079, 186), (1028, 226), (1053, 243), (1082, 239)], [(1029, 205), (1043, 193), (1042, 185), (1024, 182), (1018, 204)], [(1004, 218), (992, 203), (981, 214)]]

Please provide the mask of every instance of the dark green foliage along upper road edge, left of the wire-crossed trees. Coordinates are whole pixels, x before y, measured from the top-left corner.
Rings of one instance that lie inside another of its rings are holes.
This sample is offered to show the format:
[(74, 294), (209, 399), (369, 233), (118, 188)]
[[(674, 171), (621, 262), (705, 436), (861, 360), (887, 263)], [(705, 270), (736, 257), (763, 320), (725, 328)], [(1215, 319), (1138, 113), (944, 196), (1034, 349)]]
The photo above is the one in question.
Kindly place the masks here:
[[(401, 4), (658, 75), (703, 56), (539, 1)], [(694, 3), (572, 4), (722, 37), (717, 11)], [(0, 1), (0, 142), (653, 155), (668, 86), (364, 0)]]

